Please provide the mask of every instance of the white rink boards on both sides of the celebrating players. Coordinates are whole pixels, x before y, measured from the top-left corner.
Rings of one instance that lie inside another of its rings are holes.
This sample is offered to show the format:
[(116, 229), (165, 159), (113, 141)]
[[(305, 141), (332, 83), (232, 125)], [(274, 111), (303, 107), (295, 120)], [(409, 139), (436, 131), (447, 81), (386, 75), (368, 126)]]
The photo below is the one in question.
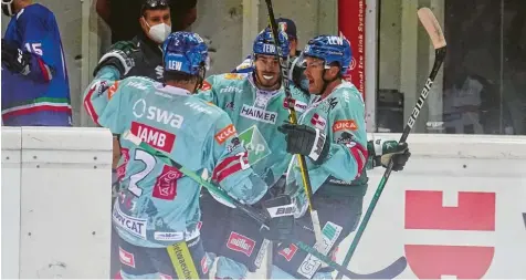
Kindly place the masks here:
[[(404, 256), (399, 279), (525, 279), (526, 137), (408, 142), (412, 156), (391, 174), (349, 268), (370, 273)], [(2, 278), (107, 278), (111, 149), (103, 128), (2, 127)], [(369, 173), (364, 211), (382, 174)]]

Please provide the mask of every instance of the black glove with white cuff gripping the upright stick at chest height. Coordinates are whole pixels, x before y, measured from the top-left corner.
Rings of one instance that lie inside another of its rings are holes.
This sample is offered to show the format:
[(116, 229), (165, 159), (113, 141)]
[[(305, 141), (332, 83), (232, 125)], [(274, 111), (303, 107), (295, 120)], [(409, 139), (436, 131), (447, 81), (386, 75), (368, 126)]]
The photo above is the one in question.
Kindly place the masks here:
[(315, 164), (323, 163), (328, 155), (330, 143), (326, 141), (322, 131), (303, 124), (290, 123), (285, 123), (277, 129), (285, 134), (286, 152), (290, 154), (308, 156)]

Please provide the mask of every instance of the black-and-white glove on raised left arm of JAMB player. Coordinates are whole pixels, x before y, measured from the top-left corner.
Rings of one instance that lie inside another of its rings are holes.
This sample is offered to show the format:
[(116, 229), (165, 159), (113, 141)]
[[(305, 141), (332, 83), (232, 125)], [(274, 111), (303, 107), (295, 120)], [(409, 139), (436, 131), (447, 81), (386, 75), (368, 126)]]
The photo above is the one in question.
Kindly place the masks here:
[(115, 66), (120, 73), (123, 79), (135, 66), (135, 54), (138, 52), (137, 46), (132, 41), (116, 42), (109, 46), (107, 51), (98, 61), (98, 65), (93, 72), (93, 76), (96, 76), (98, 70), (104, 66)]

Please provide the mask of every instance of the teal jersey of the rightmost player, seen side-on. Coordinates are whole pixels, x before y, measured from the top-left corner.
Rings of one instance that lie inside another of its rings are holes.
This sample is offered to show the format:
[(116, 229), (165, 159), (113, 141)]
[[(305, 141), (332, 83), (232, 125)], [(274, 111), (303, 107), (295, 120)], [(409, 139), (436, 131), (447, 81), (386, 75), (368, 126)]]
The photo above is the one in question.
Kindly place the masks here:
[[(325, 98), (312, 95), (308, 106), (298, 120), (325, 133), (330, 149), (324, 163), (316, 165), (305, 157), (313, 193), (323, 185), (358, 187), (365, 194), (367, 188), (367, 133), (365, 104), (358, 90), (348, 82), (336, 86)], [(296, 156), (287, 170), (287, 186), (303, 186)], [(299, 189), (303, 190), (303, 187)], [(287, 190), (294, 195), (294, 191)]]

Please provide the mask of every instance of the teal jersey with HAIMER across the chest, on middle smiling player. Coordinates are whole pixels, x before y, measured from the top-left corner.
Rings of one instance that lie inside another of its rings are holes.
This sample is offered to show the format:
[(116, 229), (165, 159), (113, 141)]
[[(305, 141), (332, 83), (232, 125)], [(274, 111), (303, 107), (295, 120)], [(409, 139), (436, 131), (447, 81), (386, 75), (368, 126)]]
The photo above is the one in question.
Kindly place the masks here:
[[(307, 96), (291, 85), (296, 113), (307, 106)], [(269, 186), (285, 174), (292, 155), (286, 153), (285, 136), (277, 127), (288, 120), (283, 86), (263, 91), (255, 86), (252, 72), (211, 75), (198, 97), (215, 104), (229, 114), (241, 143), (249, 151), (249, 162)]]

